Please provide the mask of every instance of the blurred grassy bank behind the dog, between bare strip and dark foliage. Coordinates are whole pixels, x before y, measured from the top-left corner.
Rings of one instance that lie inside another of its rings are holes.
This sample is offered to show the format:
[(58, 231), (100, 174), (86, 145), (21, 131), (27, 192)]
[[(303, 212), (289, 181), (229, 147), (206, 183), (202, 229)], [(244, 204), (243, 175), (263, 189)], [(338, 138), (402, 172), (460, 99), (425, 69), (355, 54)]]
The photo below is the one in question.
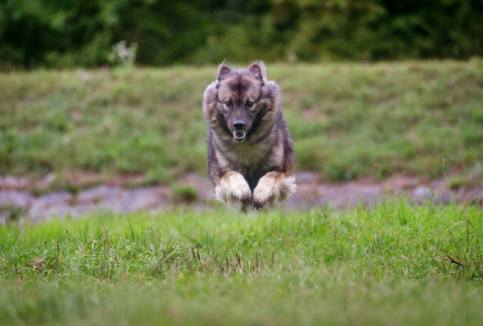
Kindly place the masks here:
[[(85, 73), (85, 72), (84, 72)], [(206, 171), (201, 112), (216, 67), (0, 73), (0, 174)], [(483, 175), (483, 61), (269, 64), (298, 169), (330, 180)], [(72, 172), (73, 171), (73, 172)], [(62, 186), (62, 185), (61, 185)]]

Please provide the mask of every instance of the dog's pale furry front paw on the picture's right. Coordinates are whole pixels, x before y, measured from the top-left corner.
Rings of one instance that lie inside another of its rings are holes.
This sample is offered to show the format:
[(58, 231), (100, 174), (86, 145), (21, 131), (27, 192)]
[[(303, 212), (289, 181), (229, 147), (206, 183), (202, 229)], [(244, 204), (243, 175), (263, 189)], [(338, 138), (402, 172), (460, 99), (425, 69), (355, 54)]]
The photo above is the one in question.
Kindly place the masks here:
[(284, 172), (269, 172), (258, 180), (253, 190), (253, 208), (279, 208), (280, 204), (292, 196), (297, 189), (295, 176), (285, 177)]

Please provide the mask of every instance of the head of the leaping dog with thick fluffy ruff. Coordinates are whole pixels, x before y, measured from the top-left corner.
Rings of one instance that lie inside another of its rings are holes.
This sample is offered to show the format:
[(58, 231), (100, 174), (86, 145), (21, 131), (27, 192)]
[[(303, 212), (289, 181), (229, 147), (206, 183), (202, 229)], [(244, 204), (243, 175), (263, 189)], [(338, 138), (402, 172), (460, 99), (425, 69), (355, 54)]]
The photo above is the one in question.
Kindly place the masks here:
[(222, 64), (203, 96), (203, 113), (219, 136), (241, 142), (262, 136), (273, 124), (280, 103), (278, 85), (267, 80), (263, 62), (248, 69)]

